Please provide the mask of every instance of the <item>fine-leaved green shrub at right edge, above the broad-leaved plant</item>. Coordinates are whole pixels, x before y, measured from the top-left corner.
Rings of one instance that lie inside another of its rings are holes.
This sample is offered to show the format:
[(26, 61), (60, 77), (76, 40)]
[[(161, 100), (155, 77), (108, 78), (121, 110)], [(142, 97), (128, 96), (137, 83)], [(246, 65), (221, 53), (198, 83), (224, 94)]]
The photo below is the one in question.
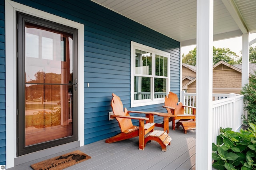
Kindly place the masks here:
[(244, 123), (256, 124), (256, 71), (249, 77), (248, 84), (242, 87), (241, 94), (244, 95), (244, 109), (248, 111), (248, 118), (242, 117)]

